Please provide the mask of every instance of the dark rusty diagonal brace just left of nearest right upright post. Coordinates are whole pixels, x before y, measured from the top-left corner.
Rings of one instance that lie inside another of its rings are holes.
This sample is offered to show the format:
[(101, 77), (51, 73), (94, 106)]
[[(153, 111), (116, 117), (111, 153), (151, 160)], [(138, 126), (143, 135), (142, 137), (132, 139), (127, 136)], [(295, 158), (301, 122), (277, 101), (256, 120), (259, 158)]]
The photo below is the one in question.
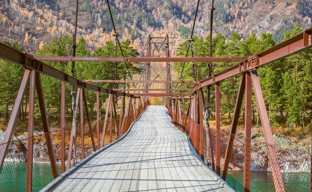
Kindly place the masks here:
[(236, 103), (235, 103), (235, 109), (234, 109), (234, 115), (232, 119), (232, 124), (231, 124), (231, 133), (229, 135), (226, 151), (225, 151), (225, 157), (224, 157), (224, 165), (223, 165), (223, 173), (222, 173), (222, 179), (225, 181), (226, 176), (227, 176), (227, 170), (229, 167), (230, 163), (230, 156), (232, 153), (233, 149), (233, 143), (234, 143), (234, 138), (235, 138), (235, 133), (236, 133), (236, 128), (238, 124), (238, 119), (239, 119), (239, 113), (241, 111), (242, 107), (242, 102), (244, 98), (244, 92), (245, 92), (245, 82), (246, 82), (246, 73), (243, 74), (241, 77), (241, 81), (239, 83), (239, 88), (238, 88), (238, 93), (236, 97)]

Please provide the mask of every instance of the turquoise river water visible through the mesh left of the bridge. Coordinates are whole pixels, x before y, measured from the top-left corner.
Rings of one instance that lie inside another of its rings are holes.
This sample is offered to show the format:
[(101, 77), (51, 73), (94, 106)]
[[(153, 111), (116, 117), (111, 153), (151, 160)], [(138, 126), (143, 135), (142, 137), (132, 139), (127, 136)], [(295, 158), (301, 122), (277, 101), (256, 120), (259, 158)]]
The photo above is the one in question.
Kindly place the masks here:
[[(60, 173), (60, 166), (57, 165)], [(32, 191), (38, 192), (51, 181), (53, 175), (50, 164), (33, 164)], [(0, 173), (0, 192), (25, 192), (26, 163), (5, 162)]]

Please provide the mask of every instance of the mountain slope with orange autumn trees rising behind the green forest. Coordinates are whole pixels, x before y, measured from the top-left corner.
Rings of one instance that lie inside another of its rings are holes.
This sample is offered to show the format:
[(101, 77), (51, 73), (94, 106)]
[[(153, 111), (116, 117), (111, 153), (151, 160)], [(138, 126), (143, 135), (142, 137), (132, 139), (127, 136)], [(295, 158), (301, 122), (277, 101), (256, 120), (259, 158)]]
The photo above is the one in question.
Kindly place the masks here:
[[(72, 0), (0, 1), (0, 40), (18, 40), (27, 52), (36, 53), (51, 37), (71, 36), (76, 2)], [(173, 37), (171, 55), (183, 42), (193, 23), (195, 1), (186, 0), (111, 0), (116, 28), (122, 39), (131, 39), (145, 55), (148, 34)], [(209, 28), (210, 0), (200, 1), (194, 33), (206, 37)], [(215, 2), (214, 32), (227, 36), (238, 31), (243, 37), (255, 32), (283, 32), (299, 21), (312, 26), (312, 0), (218, 0)], [(87, 40), (92, 51), (112, 40), (112, 24), (105, 0), (80, 0), (78, 37)], [(156, 49), (154, 50), (156, 56)]]

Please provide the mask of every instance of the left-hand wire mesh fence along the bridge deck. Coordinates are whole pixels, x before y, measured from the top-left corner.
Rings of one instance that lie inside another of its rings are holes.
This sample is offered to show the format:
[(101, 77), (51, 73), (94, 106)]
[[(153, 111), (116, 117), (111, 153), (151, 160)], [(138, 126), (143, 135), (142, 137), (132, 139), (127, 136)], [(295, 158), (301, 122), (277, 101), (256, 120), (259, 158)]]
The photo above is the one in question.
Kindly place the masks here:
[[(143, 112), (147, 105), (140, 106), (135, 112), (137, 118)], [(124, 135), (130, 128), (130, 125), (136, 118), (134, 113), (130, 113), (126, 117), (113, 118), (100, 122), (88, 123), (84, 122), (76, 126), (76, 161), (80, 162), (84, 154), (84, 158), (93, 153), (93, 144), (90, 130), (94, 138), (96, 150), (98, 150), (98, 142), (102, 142), (103, 131), (105, 131), (103, 146), (114, 142), (122, 135)], [(111, 123), (110, 123), (111, 122)], [(98, 126), (99, 125), (99, 126)], [(105, 127), (104, 127), (105, 125)], [(99, 130), (98, 130), (99, 129)], [(82, 131), (83, 130), (83, 131)], [(67, 126), (64, 129), (55, 129), (50, 132), (35, 132), (33, 137), (12, 137), (8, 142), (8, 149), (5, 154), (5, 159), (0, 172), (0, 192), (25, 192), (30, 189), (27, 186), (27, 166), (32, 165), (32, 182), (31, 191), (38, 192), (54, 179), (54, 175), (59, 176), (63, 171), (61, 165), (65, 169), (67, 165), (68, 150), (71, 139), (72, 127)], [(62, 132), (65, 133), (65, 145), (62, 146)], [(98, 135), (99, 134), (99, 135)], [(47, 139), (52, 141), (52, 149), (48, 149)], [(33, 141), (33, 163), (27, 164), (28, 143)], [(0, 154), (4, 153), (2, 146), (6, 143), (0, 144)], [(62, 147), (64, 154), (62, 154)], [(56, 162), (56, 172), (53, 174), (49, 150)], [(71, 167), (73, 166), (73, 158), (71, 158)], [(30, 176), (28, 176), (30, 177)]]

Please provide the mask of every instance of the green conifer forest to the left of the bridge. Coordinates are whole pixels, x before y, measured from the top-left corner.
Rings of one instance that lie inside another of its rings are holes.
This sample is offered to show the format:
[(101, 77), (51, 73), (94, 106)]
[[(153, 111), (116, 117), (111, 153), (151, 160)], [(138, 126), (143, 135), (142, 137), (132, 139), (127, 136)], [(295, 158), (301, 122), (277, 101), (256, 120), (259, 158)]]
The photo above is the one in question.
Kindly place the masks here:
[[(130, 40), (121, 42), (121, 47), (125, 57), (135, 57), (139, 53), (130, 46)], [(23, 52), (23, 47), (20, 47), (17, 42), (9, 43), (2, 41), (19, 51)], [(49, 45), (43, 45), (36, 55), (49, 55), (49, 56), (71, 56), (72, 55), (72, 43), (73, 38), (63, 36), (60, 40), (57, 38), (52, 39)], [(117, 49), (117, 56), (121, 56), (120, 49)], [(113, 57), (115, 56), (115, 45), (112, 41), (106, 42), (105, 46), (99, 47), (91, 54), (86, 49), (86, 41), (80, 38), (77, 42), (76, 56), (101, 56), (101, 57)], [(45, 62), (46, 64), (66, 72), (71, 75), (71, 63), (69, 62)], [(130, 73), (138, 73), (140, 69), (134, 66), (133, 63), (127, 63), (130, 68)], [(75, 63), (75, 77), (78, 79), (114, 79), (115, 63), (109, 62), (76, 62)], [(125, 63), (118, 63), (117, 65), (117, 79), (125, 79), (127, 76)], [(9, 63), (4, 60), (0, 60), (0, 80), (3, 82), (0, 85), (0, 121), (1, 124), (5, 124), (8, 121), (10, 111), (14, 105), (14, 100), (17, 95), (19, 85), (23, 76), (24, 69), (18, 65)], [(61, 102), (61, 87), (60, 81), (52, 77), (41, 75), (42, 86), (45, 94), (45, 102), (49, 119), (56, 125), (59, 124), (60, 115), (60, 102)], [(104, 88), (112, 89), (112, 85), (109, 84), (97, 84)], [(124, 85), (119, 85), (122, 88)], [(71, 116), (71, 86), (66, 85), (66, 112), (68, 116)], [(23, 104), (20, 109), (19, 122), (27, 121), (27, 105), (28, 105), (29, 89), (25, 92)], [(88, 100), (89, 109), (91, 110), (91, 117), (95, 117), (95, 103), (96, 93), (86, 90), (86, 96)], [(101, 94), (101, 103), (105, 103), (108, 95)], [(37, 101), (37, 100), (36, 100)], [(103, 110), (102, 113), (105, 111)], [(40, 111), (38, 103), (35, 104), (35, 119), (39, 119)], [(52, 123), (53, 124), (53, 123)], [(4, 128), (4, 127), (2, 127)], [(5, 128), (4, 128), (5, 130)]]

